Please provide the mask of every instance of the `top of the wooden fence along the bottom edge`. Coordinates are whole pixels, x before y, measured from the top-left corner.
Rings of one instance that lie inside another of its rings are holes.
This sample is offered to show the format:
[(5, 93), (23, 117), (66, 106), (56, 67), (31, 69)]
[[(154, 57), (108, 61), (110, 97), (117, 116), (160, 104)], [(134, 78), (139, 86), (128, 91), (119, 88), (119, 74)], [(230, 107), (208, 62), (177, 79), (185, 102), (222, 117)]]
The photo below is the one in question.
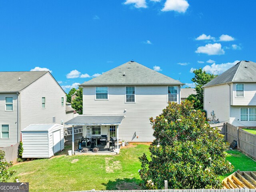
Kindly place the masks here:
[[(78, 191), (77, 191), (78, 192)], [(167, 190), (114, 190), (114, 191), (79, 191), (79, 192), (256, 192), (255, 189), (167, 189)]]

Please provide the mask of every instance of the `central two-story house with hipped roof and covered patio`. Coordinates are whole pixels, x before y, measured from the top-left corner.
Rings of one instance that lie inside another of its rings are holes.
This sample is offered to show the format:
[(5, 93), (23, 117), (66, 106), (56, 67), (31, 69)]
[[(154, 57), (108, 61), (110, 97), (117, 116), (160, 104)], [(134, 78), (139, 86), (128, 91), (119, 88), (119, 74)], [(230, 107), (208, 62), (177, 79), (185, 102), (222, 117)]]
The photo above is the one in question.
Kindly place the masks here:
[(66, 122), (83, 125), (83, 136), (106, 135), (130, 142), (154, 140), (150, 117), (168, 101), (180, 103), (184, 85), (137, 62), (127, 62), (84, 82), (83, 115)]

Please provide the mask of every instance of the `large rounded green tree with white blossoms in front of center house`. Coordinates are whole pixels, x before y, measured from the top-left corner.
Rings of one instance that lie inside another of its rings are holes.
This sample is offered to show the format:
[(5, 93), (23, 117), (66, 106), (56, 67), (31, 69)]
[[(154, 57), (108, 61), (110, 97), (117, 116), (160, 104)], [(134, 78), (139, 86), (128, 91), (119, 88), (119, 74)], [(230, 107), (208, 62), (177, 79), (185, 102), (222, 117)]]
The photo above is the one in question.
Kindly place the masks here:
[(204, 114), (192, 102), (169, 102), (162, 114), (150, 118), (154, 137), (150, 160), (140, 157), (142, 188), (220, 188), (221, 174), (233, 168), (226, 160), (228, 144), (218, 128), (205, 123)]

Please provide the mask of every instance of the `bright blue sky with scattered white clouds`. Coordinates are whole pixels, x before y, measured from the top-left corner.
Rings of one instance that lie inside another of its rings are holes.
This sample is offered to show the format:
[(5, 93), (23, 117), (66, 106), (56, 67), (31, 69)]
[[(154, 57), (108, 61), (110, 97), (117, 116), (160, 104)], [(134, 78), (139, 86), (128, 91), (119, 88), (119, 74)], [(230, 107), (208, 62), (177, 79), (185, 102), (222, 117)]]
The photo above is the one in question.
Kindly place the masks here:
[(129, 60), (192, 86), (256, 62), (256, 1), (0, 1), (1, 71), (50, 70), (70, 88)]

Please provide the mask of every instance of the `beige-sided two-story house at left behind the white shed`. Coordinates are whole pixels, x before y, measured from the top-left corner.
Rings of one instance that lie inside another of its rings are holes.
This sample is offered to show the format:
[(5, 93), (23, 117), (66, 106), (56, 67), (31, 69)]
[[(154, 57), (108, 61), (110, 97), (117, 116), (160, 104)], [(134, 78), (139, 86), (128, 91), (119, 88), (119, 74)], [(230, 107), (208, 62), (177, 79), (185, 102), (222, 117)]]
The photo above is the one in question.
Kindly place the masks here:
[(0, 147), (20, 141), (30, 124), (61, 124), (66, 93), (47, 71), (0, 72)]

